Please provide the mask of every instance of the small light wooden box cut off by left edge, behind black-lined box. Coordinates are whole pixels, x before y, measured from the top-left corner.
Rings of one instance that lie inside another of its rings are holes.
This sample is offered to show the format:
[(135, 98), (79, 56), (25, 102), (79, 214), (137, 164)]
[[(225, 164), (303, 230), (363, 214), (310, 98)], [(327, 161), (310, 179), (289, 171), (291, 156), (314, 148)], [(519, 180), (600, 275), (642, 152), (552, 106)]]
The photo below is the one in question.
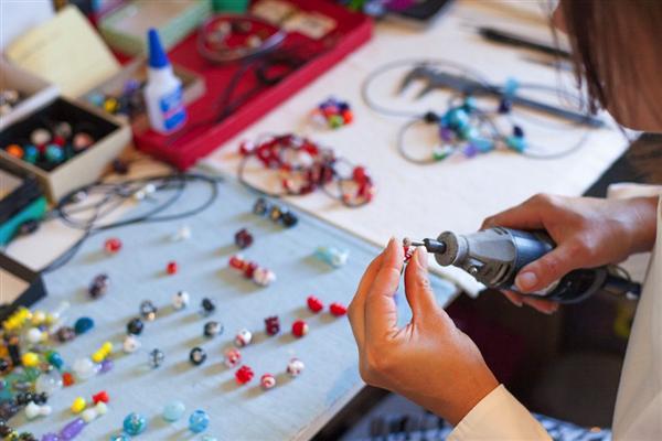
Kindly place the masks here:
[(57, 87), (0, 58), (0, 130), (57, 96)]

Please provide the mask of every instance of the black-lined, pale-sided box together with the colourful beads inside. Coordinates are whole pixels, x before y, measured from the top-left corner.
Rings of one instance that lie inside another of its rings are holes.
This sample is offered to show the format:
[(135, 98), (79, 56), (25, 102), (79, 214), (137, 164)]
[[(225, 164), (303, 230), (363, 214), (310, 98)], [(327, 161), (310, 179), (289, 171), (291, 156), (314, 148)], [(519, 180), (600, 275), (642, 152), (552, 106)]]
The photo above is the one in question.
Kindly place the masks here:
[(130, 140), (119, 119), (61, 97), (0, 132), (0, 161), (34, 175), (56, 203), (96, 181)]

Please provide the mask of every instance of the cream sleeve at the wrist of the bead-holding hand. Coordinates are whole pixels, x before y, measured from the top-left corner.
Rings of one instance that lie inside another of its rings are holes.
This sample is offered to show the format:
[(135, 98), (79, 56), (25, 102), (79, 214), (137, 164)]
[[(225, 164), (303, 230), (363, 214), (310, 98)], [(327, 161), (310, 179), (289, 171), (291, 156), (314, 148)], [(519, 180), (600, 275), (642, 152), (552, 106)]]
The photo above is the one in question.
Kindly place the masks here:
[(480, 400), (447, 438), (448, 441), (551, 439), (503, 385)]

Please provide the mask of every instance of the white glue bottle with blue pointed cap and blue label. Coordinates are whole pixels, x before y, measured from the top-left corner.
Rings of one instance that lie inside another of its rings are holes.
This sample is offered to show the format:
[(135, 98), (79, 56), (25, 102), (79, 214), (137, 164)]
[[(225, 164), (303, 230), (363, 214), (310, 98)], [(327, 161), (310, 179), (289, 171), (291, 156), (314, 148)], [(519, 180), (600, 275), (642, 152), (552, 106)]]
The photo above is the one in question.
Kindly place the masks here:
[(171, 133), (186, 122), (182, 82), (172, 73), (157, 30), (150, 29), (147, 35), (149, 69), (143, 90), (147, 115), (152, 130)]

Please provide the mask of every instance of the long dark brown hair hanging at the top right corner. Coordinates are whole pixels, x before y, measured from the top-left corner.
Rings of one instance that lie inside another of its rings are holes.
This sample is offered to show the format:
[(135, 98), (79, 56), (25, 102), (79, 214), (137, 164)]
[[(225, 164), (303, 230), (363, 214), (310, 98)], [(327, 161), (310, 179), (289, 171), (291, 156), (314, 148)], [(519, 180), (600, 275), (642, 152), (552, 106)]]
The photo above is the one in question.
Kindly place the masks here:
[[(629, 93), (662, 114), (656, 94), (649, 93), (654, 87), (662, 90), (662, 72), (654, 72), (649, 60), (656, 57), (662, 66), (662, 0), (560, 0), (558, 8), (588, 108), (619, 108), (617, 100)], [(619, 111), (627, 117), (634, 110)]]

